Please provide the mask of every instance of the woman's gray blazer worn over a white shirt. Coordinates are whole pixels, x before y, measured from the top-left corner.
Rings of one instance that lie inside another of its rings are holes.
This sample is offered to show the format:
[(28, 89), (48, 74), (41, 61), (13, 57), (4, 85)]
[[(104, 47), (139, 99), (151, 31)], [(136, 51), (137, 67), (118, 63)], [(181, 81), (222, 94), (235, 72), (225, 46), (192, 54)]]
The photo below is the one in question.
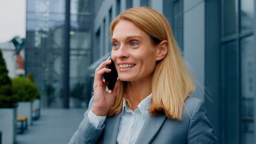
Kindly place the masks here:
[[(93, 100), (90, 101), (88, 110), (92, 106)], [(69, 144), (117, 143), (121, 114), (108, 116), (103, 127), (96, 128), (88, 119), (88, 110), (85, 112), (85, 118)], [(197, 98), (188, 97), (185, 101), (181, 121), (169, 119), (166, 115), (148, 114), (141, 133), (136, 140), (136, 144), (141, 143), (207, 144), (218, 142), (213, 134), (212, 125), (207, 118), (204, 102)]]

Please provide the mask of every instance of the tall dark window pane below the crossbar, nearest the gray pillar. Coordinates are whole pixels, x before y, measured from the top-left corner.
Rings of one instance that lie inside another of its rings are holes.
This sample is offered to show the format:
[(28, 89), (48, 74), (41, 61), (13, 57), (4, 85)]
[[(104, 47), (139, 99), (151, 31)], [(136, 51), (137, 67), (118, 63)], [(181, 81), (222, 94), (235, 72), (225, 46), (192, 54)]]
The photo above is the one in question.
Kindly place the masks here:
[(237, 43), (231, 41), (222, 45), (222, 74), (223, 74), (223, 97), (222, 110), (224, 122), (222, 124), (224, 134), (222, 143), (237, 143), (239, 127), (239, 91), (237, 71)]

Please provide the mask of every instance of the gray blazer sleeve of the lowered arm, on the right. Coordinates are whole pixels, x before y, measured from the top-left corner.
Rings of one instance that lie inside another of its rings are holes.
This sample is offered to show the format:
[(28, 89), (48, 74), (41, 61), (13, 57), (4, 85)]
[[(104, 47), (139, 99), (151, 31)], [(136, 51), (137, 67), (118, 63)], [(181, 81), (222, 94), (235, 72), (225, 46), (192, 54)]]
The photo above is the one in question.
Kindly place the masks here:
[(199, 100), (193, 110), (187, 133), (187, 144), (218, 143), (207, 116), (204, 101)]

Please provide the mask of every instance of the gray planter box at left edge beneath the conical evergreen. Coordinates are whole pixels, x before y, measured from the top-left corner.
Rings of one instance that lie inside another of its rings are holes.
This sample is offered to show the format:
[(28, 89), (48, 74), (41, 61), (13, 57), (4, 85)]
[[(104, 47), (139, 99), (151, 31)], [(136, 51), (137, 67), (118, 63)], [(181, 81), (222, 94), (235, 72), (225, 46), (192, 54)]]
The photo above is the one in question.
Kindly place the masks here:
[(16, 142), (16, 107), (0, 108), (0, 131), (2, 131), (2, 144)]

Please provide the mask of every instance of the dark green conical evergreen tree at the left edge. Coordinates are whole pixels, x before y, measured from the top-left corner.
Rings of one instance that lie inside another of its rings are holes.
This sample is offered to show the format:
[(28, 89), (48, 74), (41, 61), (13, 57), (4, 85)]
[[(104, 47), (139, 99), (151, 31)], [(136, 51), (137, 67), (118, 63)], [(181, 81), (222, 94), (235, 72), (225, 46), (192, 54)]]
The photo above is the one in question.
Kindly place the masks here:
[(8, 77), (8, 70), (0, 50), (0, 107), (15, 107), (16, 103), (17, 97), (13, 95), (11, 79)]

